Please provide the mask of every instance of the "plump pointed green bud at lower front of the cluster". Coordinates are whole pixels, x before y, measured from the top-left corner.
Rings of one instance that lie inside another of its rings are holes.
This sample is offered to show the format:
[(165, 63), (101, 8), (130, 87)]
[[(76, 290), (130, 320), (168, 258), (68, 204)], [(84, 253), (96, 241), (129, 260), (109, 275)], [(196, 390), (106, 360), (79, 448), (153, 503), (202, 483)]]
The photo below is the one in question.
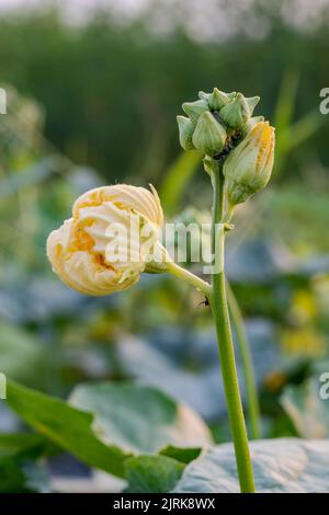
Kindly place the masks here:
[(226, 130), (211, 112), (206, 112), (197, 121), (192, 141), (203, 153), (214, 156), (225, 146)]

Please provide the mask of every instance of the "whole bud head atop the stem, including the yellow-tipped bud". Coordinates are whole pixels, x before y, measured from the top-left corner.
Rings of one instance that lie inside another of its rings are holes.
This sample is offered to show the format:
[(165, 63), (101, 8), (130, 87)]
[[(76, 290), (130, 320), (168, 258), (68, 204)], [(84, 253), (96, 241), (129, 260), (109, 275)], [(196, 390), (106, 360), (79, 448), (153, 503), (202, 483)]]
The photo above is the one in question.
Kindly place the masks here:
[(183, 149), (201, 150), (204, 169), (212, 178), (224, 174), (229, 214), (262, 190), (272, 173), (274, 128), (263, 116), (252, 116), (259, 101), (259, 96), (215, 88), (213, 93), (201, 91), (198, 100), (182, 105), (188, 117), (177, 117)]

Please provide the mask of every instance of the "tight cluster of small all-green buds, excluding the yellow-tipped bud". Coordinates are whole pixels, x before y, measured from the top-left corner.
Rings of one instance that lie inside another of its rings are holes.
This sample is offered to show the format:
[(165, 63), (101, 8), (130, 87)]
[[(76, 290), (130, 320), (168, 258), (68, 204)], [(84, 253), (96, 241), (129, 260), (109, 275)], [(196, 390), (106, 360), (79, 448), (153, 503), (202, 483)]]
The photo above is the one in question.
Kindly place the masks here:
[(252, 118), (259, 100), (224, 93), (217, 88), (213, 93), (201, 91), (198, 100), (182, 105), (188, 117), (177, 117), (182, 148), (197, 149), (211, 157), (219, 154), (236, 135), (243, 136), (259, 121)]

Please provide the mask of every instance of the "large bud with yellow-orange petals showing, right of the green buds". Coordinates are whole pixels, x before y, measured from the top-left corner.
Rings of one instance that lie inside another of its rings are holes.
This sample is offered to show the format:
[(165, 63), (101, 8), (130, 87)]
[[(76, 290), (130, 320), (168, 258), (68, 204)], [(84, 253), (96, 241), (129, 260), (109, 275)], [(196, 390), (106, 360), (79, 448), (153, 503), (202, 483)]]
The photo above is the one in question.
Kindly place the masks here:
[(274, 162), (274, 128), (269, 122), (259, 122), (228, 156), (223, 172), (231, 205), (245, 202), (268, 184)]

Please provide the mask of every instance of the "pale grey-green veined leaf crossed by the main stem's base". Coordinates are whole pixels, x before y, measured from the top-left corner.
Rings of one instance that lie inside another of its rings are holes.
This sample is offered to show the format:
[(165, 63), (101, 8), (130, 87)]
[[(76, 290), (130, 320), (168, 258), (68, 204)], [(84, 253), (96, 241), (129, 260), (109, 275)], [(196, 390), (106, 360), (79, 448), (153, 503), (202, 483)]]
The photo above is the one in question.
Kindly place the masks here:
[[(250, 443), (256, 489), (262, 493), (326, 492), (329, 439), (277, 438)], [(231, 444), (204, 451), (186, 466), (173, 492), (239, 492)]]

